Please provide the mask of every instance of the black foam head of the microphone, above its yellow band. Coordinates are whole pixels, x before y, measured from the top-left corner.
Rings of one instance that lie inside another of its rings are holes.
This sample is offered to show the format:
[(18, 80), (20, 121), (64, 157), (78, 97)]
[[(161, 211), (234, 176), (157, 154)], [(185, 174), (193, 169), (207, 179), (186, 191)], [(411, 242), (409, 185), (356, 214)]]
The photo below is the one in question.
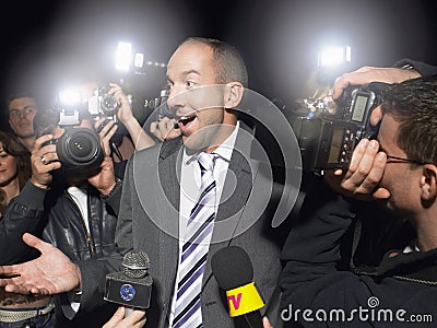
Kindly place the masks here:
[(253, 280), (253, 266), (239, 246), (220, 249), (211, 259), (212, 272), (218, 286), (225, 291), (248, 284)]

